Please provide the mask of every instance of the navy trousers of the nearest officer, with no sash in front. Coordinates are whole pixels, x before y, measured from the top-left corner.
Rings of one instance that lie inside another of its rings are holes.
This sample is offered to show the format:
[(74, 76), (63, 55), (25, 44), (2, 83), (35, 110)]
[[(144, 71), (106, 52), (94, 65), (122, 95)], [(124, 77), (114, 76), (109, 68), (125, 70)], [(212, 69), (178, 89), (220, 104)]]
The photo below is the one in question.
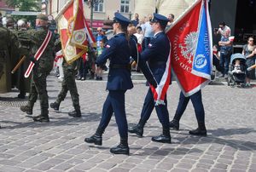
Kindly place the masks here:
[(121, 138), (128, 137), (128, 126), (125, 115), (125, 92), (126, 90), (109, 90), (107, 99), (103, 105), (101, 123), (99, 124), (99, 127), (105, 130), (114, 112)]

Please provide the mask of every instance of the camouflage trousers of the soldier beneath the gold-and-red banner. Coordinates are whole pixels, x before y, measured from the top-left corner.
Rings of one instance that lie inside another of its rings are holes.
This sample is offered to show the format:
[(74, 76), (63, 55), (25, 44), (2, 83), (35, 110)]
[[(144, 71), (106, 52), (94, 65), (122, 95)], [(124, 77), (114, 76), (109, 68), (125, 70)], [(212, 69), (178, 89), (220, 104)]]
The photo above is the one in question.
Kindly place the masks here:
[(63, 72), (64, 78), (61, 84), (61, 92), (59, 93), (56, 102), (61, 103), (62, 100), (67, 96), (67, 91), (69, 90), (71, 99), (73, 101), (73, 106), (75, 109), (80, 109), (79, 106), (79, 93), (77, 89), (77, 84), (75, 82), (75, 75), (77, 72), (76, 69), (77, 62), (74, 61), (72, 65), (67, 65), (64, 62), (63, 64)]

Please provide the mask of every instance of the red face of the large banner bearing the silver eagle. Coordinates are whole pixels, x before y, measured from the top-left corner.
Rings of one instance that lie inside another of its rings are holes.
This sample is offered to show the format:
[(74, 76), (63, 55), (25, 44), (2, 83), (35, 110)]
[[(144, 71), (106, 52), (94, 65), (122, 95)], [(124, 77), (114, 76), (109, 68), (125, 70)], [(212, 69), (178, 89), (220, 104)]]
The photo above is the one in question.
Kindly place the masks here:
[(206, 78), (191, 73), (202, 3), (202, 0), (194, 3), (166, 32), (172, 43), (172, 72), (185, 96), (193, 95), (209, 82)]

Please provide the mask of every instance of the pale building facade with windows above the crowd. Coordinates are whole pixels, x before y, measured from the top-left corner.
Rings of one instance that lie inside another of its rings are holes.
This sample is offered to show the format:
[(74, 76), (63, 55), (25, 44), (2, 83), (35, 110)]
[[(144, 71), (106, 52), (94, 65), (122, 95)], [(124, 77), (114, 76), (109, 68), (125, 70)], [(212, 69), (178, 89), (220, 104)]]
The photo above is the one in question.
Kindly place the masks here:
[[(61, 11), (68, 0), (44, 0), (47, 4), (47, 13), (54, 17)], [(84, 15), (90, 21), (90, 1), (84, 0)], [(113, 19), (114, 12), (124, 14), (128, 19), (133, 19), (134, 14), (139, 14), (142, 19), (148, 14), (153, 14), (156, 9), (160, 14), (174, 14), (178, 16), (195, 0), (94, 0), (93, 28), (103, 26), (103, 21)], [(89, 22), (90, 23), (90, 22)]]

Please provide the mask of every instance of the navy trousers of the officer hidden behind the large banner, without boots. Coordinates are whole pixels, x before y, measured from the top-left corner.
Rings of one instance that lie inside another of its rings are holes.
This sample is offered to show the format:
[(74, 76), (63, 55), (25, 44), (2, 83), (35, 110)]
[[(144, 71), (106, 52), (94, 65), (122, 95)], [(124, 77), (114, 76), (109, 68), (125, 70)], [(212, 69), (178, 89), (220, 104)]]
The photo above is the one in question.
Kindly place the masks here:
[(180, 92), (174, 119), (176, 119), (177, 121), (180, 120), (180, 118), (183, 116), (183, 112), (186, 110), (189, 100), (192, 101), (192, 104), (194, 106), (197, 123), (205, 123), (205, 110), (201, 101), (201, 90), (189, 97), (185, 97), (183, 93)]

